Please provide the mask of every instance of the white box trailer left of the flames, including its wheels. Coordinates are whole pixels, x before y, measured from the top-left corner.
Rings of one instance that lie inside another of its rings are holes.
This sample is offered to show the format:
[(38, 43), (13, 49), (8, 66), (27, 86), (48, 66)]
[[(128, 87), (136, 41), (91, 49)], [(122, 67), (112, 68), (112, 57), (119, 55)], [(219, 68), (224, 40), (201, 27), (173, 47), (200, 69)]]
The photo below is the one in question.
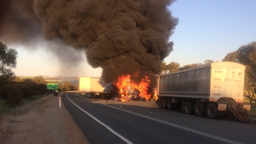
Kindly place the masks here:
[[(105, 83), (101, 78), (79, 77), (79, 91), (91, 96), (99, 96), (111, 83)], [(106, 92), (105, 92), (106, 93)]]

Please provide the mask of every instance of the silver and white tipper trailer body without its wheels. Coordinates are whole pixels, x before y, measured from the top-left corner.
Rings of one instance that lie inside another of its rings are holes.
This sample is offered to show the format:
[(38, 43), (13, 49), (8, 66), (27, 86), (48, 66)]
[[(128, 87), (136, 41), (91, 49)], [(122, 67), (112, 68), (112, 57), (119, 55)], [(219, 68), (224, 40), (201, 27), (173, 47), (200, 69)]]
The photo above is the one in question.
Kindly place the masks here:
[(222, 97), (243, 102), (245, 66), (233, 62), (163, 74), (158, 80), (159, 97), (187, 97), (217, 101)]

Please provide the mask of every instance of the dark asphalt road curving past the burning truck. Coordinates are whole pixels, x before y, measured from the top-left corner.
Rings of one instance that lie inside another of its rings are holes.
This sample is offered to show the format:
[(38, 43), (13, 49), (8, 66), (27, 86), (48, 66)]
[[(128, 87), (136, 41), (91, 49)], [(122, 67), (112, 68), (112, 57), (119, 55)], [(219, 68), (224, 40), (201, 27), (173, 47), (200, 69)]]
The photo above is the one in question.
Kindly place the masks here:
[(75, 92), (62, 96), (91, 144), (255, 143), (256, 124), (231, 117), (212, 120), (160, 108), (93, 103), (92, 99)]

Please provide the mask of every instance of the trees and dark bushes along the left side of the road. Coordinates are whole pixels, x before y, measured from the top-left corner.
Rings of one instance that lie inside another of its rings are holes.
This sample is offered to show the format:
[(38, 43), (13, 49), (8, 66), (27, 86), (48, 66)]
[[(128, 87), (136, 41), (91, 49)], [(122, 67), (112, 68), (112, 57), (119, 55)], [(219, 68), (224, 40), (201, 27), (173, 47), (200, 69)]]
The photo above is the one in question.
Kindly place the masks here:
[(58, 83), (59, 91), (77, 91), (78, 86), (71, 82), (78, 82), (76, 77), (64, 81), (64, 77), (17, 77), (12, 71), (16, 67), (18, 52), (8, 48), (0, 42), (0, 138), (10, 123), (12, 109), (19, 105), (40, 99), (53, 94), (53, 90), (47, 89), (47, 83)]

